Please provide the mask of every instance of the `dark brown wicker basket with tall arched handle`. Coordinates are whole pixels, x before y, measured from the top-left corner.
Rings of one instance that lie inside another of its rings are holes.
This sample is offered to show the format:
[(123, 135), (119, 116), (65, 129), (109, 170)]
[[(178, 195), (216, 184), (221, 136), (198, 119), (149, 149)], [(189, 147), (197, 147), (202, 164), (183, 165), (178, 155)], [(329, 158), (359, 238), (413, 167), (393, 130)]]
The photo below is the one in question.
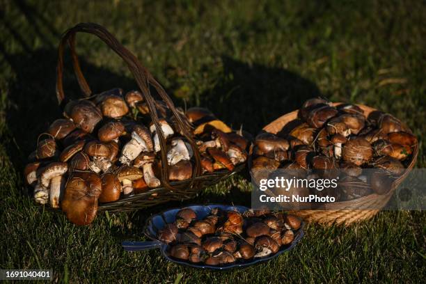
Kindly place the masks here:
[[(216, 184), (224, 178), (228, 178), (230, 175), (241, 171), (244, 168), (244, 164), (236, 166), (234, 171), (222, 170), (216, 171), (214, 173), (207, 173), (203, 175), (201, 173), (200, 166), (200, 152), (196, 147), (196, 142), (192, 138), (189, 132), (189, 125), (182, 120), (182, 115), (178, 113), (178, 110), (175, 108), (172, 100), (168, 97), (164, 88), (155, 80), (150, 72), (139, 63), (136, 56), (134, 56), (129, 50), (127, 50), (123, 45), (118, 42), (118, 40), (109, 33), (103, 26), (93, 23), (81, 23), (74, 26), (72, 29), (69, 29), (63, 34), (60, 45), (58, 47), (58, 65), (57, 65), (57, 81), (56, 81), (56, 96), (58, 98), (58, 103), (61, 107), (64, 107), (67, 98), (65, 97), (63, 91), (63, 52), (65, 45), (69, 45), (70, 52), (72, 55), (72, 65), (74, 68), (74, 73), (77, 77), (77, 81), (81, 88), (81, 91), (84, 94), (83, 99), (87, 99), (92, 96), (92, 92), (86, 79), (84, 78), (83, 73), (81, 72), (79, 60), (75, 50), (75, 35), (78, 32), (90, 33), (102, 41), (104, 41), (118, 56), (120, 56), (123, 61), (127, 64), (127, 67), (134, 75), (134, 79), (141, 90), (141, 93), (148, 104), (148, 109), (150, 111), (150, 118), (157, 128), (157, 133), (159, 134), (159, 142), (161, 145), (161, 164), (164, 165), (161, 167), (161, 187), (155, 189), (150, 189), (146, 192), (135, 194), (134, 196), (129, 196), (121, 198), (117, 201), (111, 203), (101, 203), (98, 207), (98, 211), (108, 210), (109, 212), (123, 212), (137, 210), (144, 207), (150, 207), (158, 205), (160, 203), (166, 203), (171, 200), (185, 200), (194, 198), (198, 191), (204, 187)], [(190, 180), (184, 180), (180, 182), (169, 182), (168, 180), (168, 163), (166, 157), (166, 139), (161, 132), (161, 126), (159, 125), (159, 117), (157, 116), (157, 109), (155, 107), (155, 99), (150, 93), (150, 88), (153, 87), (156, 93), (159, 95), (161, 100), (163, 100), (167, 107), (173, 113), (173, 118), (175, 119), (178, 127), (180, 128), (182, 135), (187, 139), (191, 144), (191, 147), (194, 150), (195, 166)], [(45, 205), (47, 209), (49, 205)], [(56, 210), (59, 211), (59, 210)]]

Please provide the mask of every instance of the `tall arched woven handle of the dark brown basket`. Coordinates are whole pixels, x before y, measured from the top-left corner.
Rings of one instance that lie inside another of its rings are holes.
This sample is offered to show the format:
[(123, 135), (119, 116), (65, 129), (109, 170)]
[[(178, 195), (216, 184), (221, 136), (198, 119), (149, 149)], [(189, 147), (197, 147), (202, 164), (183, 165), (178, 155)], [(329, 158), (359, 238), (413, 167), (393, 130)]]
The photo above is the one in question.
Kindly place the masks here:
[(168, 163), (167, 163), (167, 153), (166, 153), (166, 139), (164, 138), (164, 134), (161, 130), (161, 125), (159, 124), (159, 118), (157, 114), (157, 109), (155, 107), (155, 100), (150, 93), (150, 85), (152, 85), (157, 93), (161, 97), (162, 100), (166, 103), (167, 107), (172, 111), (173, 116), (176, 118), (176, 123), (180, 127), (180, 131), (183, 136), (189, 141), (191, 148), (194, 151), (195, 157), (195, 167), (192, 173), (191, 187), (195, 183), (195, 178), (201, 174), (201, 166), (200, 166), (200, 152), (196, 146), (196, 142), (192, 138), (191, 134), (188, 132), (187, 124), (182, 120), (181, 114), (175, 108), (173, 101), (170, 97), (168, 97), (164, 88), (159, 84), (157, 80), (150, 74), (150, 72), (139, 63), (138, 59), (132, 52), (129, 52), (123, 45), (118, 42), (118, 40), (111, 34), (107, 29), (99, 24), (94, 23), (80, 23), (76, 26), (68, 29), (63, 33), (61, 38), (61, 42), (58, 47), (58, 65), (56, 68), (56, 97), (58, 98), (58, 104), (63, 104), (65, 100), (65, 94), (63, 92), (63, 52), (65, 49), (65, 45), (68, 43), (71, 50), (72, 55), (72, 65), (74, 68), (74, 73), (76, 74), (77, 81), (81, 88), (81, 91), (84, 93), (85, 97), (90, 97), (91, 90), (88, 86), (86, 79), (84, 78), (83, 73), (81, 72), (79, 60), (77, 57), (77, 53), (75, 52), (75, 34), (77, 32), (82, 33), (90, 33), (98, 38), (100, 38), (103, 42), (105, 42), (120, 58), (125, 61), (127, 67), (130, 72), (132, 72), (136, 83), (138, 84), (145, 101), (148, 104), (148, 109), (150, 113), (150, 117), (152, 123), (155, 125), (155, 129), (157, 130), (157, 134), (159, 136), (160, 143), (160, 152), (161, 152), (161, 182), (164, 184), (164, 187), (171, 190), (180, 190), (178, 187), (171, 186), (168, 180)]

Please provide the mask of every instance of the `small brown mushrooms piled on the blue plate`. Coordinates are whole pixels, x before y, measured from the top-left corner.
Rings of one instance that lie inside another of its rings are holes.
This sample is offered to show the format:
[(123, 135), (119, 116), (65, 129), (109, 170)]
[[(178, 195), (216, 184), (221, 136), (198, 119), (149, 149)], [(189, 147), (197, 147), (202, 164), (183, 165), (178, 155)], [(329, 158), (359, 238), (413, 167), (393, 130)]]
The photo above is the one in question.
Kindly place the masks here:
[(184, 208), (157, 237), (168, 244), (173, 258), (216, 266), (273, 255), (292, 244), (300, 226), (297, 217), (269, 210), (240, 214), (213, 208), (203, 219), (197, 219), (194, 210)]

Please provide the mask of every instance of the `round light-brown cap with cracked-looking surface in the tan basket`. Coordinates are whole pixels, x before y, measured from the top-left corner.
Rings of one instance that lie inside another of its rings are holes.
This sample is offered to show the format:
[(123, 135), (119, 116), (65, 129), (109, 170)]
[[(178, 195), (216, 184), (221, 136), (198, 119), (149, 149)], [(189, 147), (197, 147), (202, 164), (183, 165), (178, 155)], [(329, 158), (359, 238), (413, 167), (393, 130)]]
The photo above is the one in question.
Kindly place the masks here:
[(373, 150), (365, 139), (357, 137), (345, 143), (342, 150), (342, 159), (352, 161), (357, 166), (367, 163), (372, 158)]

